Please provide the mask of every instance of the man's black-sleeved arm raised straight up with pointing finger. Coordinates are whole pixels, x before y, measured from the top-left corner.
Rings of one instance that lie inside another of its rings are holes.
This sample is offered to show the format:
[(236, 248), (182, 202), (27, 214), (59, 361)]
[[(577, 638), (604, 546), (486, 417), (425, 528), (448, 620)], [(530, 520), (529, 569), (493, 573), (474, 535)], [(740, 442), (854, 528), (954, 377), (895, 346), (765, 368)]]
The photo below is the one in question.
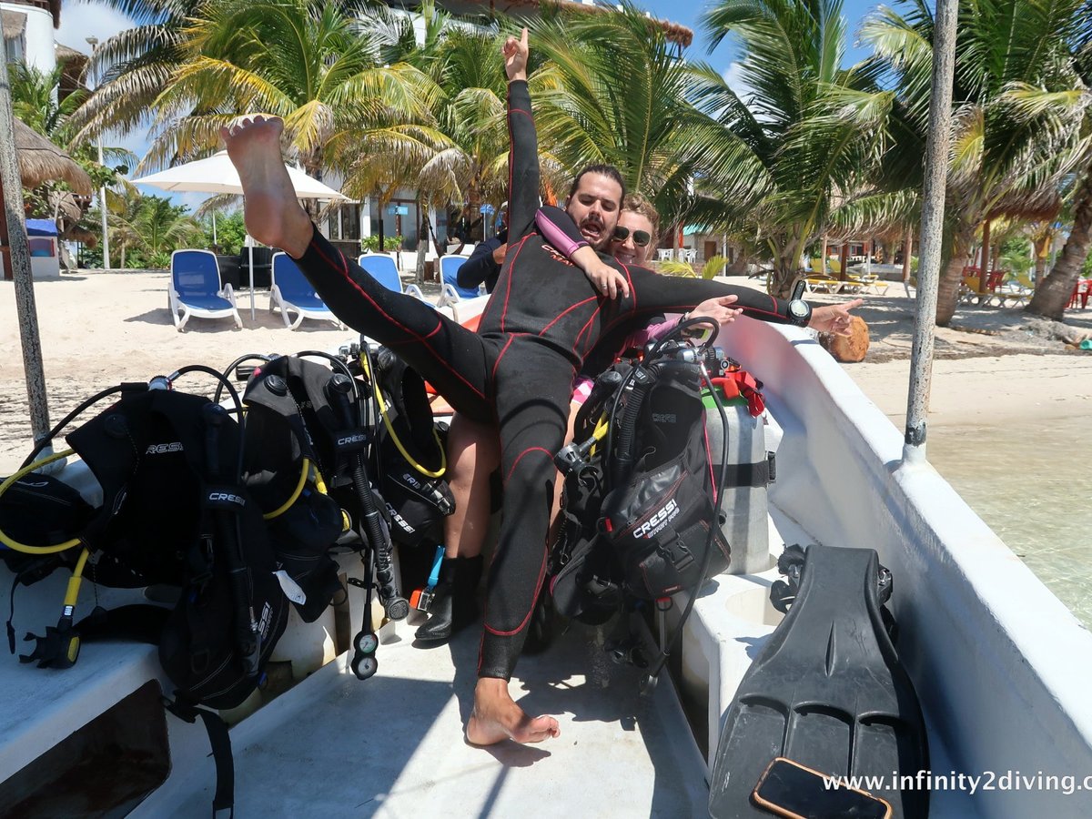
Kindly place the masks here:
[(520, 39), (505, 40), (502, 51), (509, 80), (508, 239), (511, 244), (534, 229), (538, 210), (538, 136), (527, 91), (527, 29), (523, 29)]

